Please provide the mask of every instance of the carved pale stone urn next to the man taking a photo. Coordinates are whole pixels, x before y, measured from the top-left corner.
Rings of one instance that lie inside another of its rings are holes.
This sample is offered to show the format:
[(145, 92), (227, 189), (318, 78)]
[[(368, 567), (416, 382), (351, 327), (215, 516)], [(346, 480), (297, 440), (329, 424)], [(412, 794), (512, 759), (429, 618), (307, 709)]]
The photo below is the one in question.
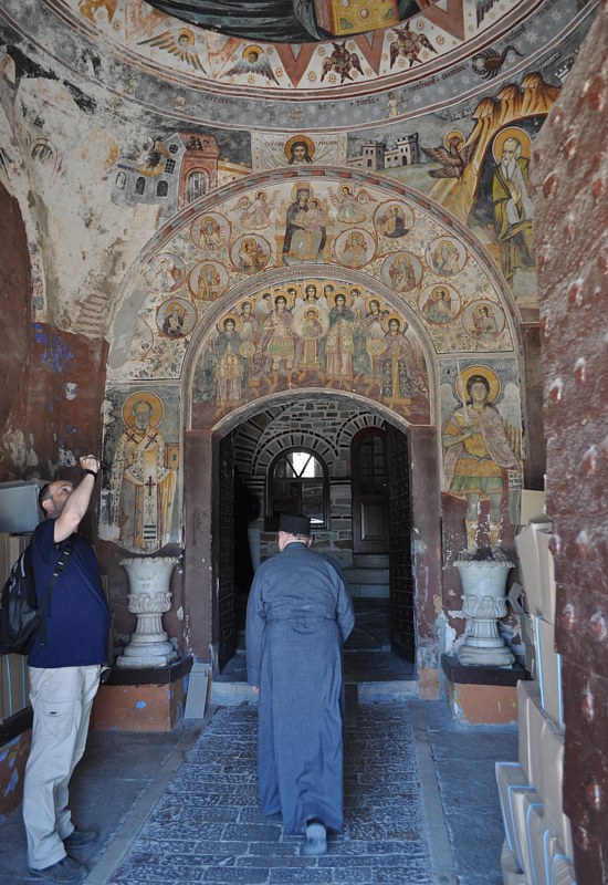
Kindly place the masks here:
[(137, 626), (117, 667), (165, 667), (177, 658), (161, 620), (171, 607), (169, 584), (177, 562), (176, 556), (120, 560), (129, 580), (128, 610), (137, 615)]

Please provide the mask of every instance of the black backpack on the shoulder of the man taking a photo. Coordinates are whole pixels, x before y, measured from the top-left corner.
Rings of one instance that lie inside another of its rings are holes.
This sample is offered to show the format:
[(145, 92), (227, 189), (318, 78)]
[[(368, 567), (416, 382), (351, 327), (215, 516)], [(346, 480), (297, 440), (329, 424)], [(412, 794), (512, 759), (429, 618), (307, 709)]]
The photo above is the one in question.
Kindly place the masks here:
[(51, 598), (51, 591), (61, 570), (72, 552), (72, 540), (65, 545), (44, 597), (38, 605), (34, 573), (32, 568), (32, 548), (28, 544), (11, 569), (11, 573), (2, 589), (0, 601), (0, 655), (29, 655), (36, 634), (40, 632), (40, 644), (46, 641), (45, 612)]

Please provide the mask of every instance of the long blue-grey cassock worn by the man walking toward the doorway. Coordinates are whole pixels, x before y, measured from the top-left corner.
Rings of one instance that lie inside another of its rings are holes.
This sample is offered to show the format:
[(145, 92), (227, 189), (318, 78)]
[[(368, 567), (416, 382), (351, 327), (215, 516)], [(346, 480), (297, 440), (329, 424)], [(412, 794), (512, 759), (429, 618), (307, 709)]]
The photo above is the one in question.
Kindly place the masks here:
[(264, 814), (287, 833), (310, 818), (343, 824), (342, 644), (355, 624), (339, 568), (292, 542), (258, 569), (248, 603), (247, 667), (260, 686), (258, 775)]

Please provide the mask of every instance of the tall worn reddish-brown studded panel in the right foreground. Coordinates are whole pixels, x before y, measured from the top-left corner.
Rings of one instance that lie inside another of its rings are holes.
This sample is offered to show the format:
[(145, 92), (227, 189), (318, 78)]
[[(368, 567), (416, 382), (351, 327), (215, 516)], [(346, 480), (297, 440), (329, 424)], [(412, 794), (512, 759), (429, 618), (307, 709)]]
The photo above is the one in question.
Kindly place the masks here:
[(547, 511), (563, 655), (564, 811), (580, 883), (608, 883), (608, 7), (535, 143)]

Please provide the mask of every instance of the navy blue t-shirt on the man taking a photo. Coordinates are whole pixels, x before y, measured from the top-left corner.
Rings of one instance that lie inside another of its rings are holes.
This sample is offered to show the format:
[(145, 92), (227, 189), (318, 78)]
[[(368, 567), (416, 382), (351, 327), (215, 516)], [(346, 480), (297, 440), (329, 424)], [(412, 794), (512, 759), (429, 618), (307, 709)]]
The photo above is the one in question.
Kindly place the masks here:
[[(39, 603), (44, 597), (61, 551), (53, 541), (55, 521), (45, 520), (32, 535), (32, 565)], [(104, 596), (99, 566), (93, 548), (72, 535), (70, 559), (59, 575), (46, 610), (46, 642), (40, 636), (30, 653), (31, 667), (80, 667), (105, 664), (109, 610)]]

